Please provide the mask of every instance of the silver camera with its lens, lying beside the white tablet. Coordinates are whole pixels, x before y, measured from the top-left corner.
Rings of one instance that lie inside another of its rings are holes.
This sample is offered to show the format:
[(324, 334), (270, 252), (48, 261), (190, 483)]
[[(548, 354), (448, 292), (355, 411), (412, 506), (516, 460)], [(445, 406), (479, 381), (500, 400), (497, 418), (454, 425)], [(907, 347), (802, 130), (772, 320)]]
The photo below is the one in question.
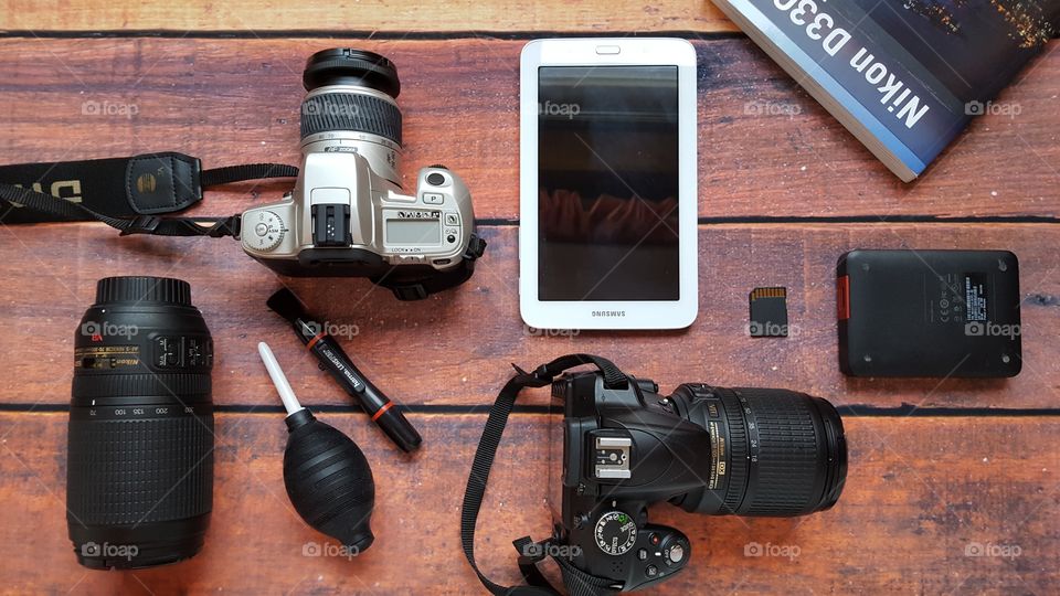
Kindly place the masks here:
[(246, 254), (282, 275), (368, 277), (402, 300), (466, 281), (486, 243), (471, 196), (443, 166), (401, 187), (401, 92), (385, 57), (333, 49), (303, 74), (303, 162), (293, 192), (247, 210)]

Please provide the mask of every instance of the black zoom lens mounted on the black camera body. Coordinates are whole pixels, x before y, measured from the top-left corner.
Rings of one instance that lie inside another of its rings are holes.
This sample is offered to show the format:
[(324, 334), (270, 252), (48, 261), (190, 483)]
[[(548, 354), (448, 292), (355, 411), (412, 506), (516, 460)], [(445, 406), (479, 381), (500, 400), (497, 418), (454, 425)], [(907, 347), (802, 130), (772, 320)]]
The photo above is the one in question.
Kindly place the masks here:
[(786, 390), (681, 385), (678, 413), (710, 435), (704, 486), (672, 502), (711, 515), (804, 515), (830, 508), (847, 477), (836, 408)]

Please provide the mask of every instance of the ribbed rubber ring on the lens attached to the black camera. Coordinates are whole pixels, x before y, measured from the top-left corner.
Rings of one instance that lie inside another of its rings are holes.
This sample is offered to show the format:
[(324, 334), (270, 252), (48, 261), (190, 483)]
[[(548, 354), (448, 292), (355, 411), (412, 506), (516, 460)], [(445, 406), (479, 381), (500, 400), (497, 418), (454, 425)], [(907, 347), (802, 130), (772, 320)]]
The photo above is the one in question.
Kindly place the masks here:
[(810, 403), (786, 391), (741, 389), (759, 430), (757, 478), (748, 515), (797, 515), (816, 508), (822, 478)]

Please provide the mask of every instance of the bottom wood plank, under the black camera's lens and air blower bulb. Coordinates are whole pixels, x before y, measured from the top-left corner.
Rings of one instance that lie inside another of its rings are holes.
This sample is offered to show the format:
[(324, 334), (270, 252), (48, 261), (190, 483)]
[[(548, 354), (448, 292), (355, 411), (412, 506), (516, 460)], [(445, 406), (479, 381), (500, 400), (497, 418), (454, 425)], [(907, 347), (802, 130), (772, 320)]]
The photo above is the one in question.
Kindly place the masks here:
[[(407, 461), (368, 436), (359, 419), (321, 417), (349, 433), (372, 462), (378, 504), (370, 551), (351, 561), (303, 556), (303, 546), (321, 538), (301, 523), (284, 493), (279, 415), (220, 415), (204, 551), (176, 566), (104, 573), (78, 567), (70, 552), (65, 415), (0, 414), (4, 590), (480, 593), (460, 552), (458, 511), (485, 416), (414, 416), (426, 441)], [(542, 415), (517, 414), (490, 477), (478, 558), (502, 583), (518, 579), (509, 541), (549, 531), (547, 424)], [(680, 528), (692, 541), (689, 567), (656, 593), (692, 594), (704, 586), (718, 594), (1053, 592), (1060, 582), (1060, 418), (848, 417), (845, 425), (850, 469), (842, 497), (828, 512), (711, 519), (668, 504), (653, 508), (655, 522)], [(508, 464), (516, 459), (518, 467)], [(751, 543), (797, 555), (745, 556)], [(966, 556), (974, 544), (1018, 556)]]

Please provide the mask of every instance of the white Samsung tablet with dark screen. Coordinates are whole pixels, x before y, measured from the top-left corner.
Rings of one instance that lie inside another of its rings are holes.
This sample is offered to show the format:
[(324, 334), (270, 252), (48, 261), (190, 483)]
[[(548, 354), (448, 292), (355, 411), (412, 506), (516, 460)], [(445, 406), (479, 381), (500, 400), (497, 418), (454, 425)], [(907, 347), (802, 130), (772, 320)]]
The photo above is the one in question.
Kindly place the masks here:
[(539, 329), (696, 319), (696, 51), (536, 40), (520, 70), (519, 305)]

